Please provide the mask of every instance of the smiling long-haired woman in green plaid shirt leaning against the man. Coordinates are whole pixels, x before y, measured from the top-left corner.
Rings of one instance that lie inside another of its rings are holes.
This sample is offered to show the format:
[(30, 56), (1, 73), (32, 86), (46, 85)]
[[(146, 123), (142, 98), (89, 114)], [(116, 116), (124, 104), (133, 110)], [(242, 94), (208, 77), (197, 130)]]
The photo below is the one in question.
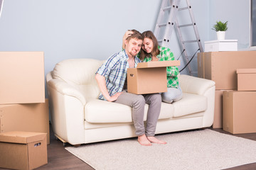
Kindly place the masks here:
[[(124, 39), (126, 39), (131, 33), (132, 31), (128, 30), (124, 34)], [(142, 50), (138, 55), (142, 62), (174, 60), (173, 52), (171, 52), (171, 50), (167, 47), (159, 46), (154, 33), (152, 33), (150, 30), (147, 30), (142, 33), (142, 36)], [(166, 73), (167, 91), (161, 93), (161, 97), (162, 101), (166, 103), (172, 103), (182, 98), (181, 87), (178, 84), (178, 67), (166, 67)]]

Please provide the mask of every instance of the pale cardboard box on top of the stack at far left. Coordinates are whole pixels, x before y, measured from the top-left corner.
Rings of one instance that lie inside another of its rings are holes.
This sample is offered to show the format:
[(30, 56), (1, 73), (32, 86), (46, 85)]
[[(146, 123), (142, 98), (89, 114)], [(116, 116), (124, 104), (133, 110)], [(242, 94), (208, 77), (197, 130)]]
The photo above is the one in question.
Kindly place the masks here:
[(0, 104), (43, 103), (43, 52), (0, 52)]

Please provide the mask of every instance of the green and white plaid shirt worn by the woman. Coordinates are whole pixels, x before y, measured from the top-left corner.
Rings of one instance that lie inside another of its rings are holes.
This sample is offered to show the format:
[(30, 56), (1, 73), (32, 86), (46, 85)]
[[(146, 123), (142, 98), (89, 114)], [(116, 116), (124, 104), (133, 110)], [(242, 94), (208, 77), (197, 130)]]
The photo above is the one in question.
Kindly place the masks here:
[[(167, 47), (161, 47), (159, 46), (160, 54), (156, 57), (159, 59), (159, 61), (171, 61), (174, 59), (174, 53), (171, 52), (171, 50)], [(149, 57), (146, 57), (143, 62), (150, 62), (151, 61), (151, 55)], [(166, 73), (167, 73), (167, 87), (178, 87), (178, 67), (172, 66), (172, 67), (166, 67)]]

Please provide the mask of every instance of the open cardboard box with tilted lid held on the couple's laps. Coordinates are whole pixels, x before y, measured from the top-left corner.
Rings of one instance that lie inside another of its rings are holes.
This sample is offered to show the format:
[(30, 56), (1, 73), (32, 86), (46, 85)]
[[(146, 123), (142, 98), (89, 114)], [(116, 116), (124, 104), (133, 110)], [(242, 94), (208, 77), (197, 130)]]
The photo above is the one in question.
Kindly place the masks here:
[(132, 94), (154, 94), (167, 91), (166, 67), (181, 62), (142, 62), (137, 68), (127, 69), (127, 91)]

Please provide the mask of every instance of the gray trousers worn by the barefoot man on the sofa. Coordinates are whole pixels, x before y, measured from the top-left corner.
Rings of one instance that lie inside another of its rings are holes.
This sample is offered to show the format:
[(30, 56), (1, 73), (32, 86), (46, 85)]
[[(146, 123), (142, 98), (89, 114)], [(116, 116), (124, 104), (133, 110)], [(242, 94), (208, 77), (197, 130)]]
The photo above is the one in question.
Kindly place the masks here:
[[(161, 94), (129, 94), (126, 91), (118, 96), (115, 103), (121, 103), (132, 107), (132, 120), (134, 122), (135, 134), (137, 136), (154, 136), (156, 123), (161, 110)], [(149, 104), (146, 118), (146, 128), (144, 127), (144, 107)]]

